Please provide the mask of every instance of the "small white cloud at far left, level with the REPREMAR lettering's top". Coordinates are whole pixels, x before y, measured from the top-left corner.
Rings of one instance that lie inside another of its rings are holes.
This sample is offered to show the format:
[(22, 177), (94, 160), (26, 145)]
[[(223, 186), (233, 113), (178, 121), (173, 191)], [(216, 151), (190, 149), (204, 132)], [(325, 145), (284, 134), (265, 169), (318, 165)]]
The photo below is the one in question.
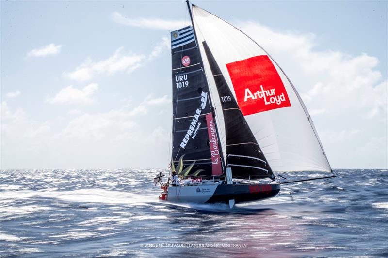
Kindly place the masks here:
[(63, 88), (54, 97), (47, 98), (46, 101), (51, 104), (87, 104), (93, 102), (91, 95), (93, 95), (93, 93), (97, 90), (97, 83), (91, 83), (85, 86), (82, 90), (76, 89), (70, 85)]

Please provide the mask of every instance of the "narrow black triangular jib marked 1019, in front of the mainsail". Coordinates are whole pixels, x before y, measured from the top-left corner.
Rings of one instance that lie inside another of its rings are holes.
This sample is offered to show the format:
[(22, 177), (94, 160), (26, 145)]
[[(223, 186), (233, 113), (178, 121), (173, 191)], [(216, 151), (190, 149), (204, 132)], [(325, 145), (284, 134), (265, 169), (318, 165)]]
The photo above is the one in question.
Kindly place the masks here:
[(226, 131), (226, 166), (234, 178), (271, 178), (274, 174), (206, 42), (203, 42), (220, 97)]

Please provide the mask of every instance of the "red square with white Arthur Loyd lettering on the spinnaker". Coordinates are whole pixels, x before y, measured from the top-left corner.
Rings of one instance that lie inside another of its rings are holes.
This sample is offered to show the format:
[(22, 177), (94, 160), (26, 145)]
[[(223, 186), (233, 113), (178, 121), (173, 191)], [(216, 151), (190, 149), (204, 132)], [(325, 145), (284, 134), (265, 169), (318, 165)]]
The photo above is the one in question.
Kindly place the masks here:
[(226, 68), (242, 115), (291, 106), (284, 84), (268, 56), (228, 63)]

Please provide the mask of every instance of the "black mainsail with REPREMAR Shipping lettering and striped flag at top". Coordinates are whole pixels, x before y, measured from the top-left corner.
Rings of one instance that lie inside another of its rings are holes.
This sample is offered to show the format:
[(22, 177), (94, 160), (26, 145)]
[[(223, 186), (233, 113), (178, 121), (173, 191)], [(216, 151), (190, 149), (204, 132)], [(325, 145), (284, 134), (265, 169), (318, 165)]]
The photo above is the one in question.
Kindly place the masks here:
[[(214, 117), (214, 109), (211, 106), (209, 86), (191, 26), (171, 32), (171, 56), (172, 166), (180, 175), (210, 176), (213, 164), (206, 115), (209, 117), (209, 114), (212, 114)], [(213, 121), (215, 122), (215, 119)], [(219, 162), (222, 166), (221, 158)]]

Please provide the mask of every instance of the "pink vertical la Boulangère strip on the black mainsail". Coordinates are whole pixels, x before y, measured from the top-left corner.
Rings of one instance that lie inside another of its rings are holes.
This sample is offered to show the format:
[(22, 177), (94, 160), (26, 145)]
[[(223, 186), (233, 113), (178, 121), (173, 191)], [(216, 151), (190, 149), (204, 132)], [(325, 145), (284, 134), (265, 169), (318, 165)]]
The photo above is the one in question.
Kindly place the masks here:
[(211, 113), (206, 115), (206, 122), (208, 124), (212, 175), (221, 175), (222, 168), (220, 149), (218, 146), (217, 133), (213, 121), (213, 115)]

